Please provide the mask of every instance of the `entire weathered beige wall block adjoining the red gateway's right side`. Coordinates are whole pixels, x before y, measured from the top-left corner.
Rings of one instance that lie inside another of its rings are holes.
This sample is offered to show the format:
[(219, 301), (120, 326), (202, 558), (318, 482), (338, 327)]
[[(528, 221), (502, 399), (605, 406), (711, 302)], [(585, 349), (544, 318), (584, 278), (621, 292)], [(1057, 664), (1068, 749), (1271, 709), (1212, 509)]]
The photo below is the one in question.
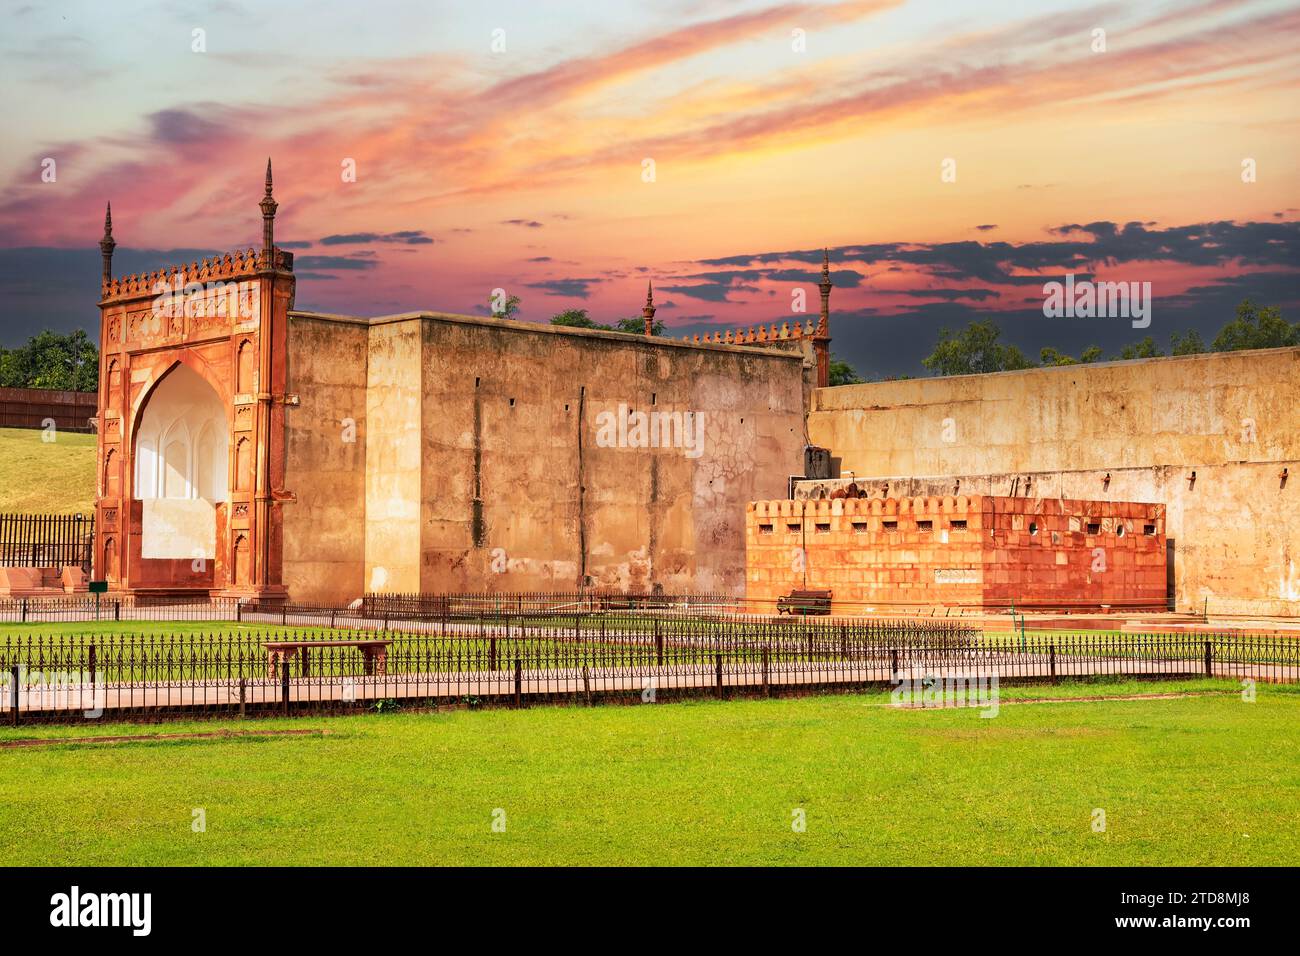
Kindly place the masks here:
[[(784, 497), (802, 468), (812, 369), (798, 352), (442, 313), (295, 313), (291, 328), (292, 600), (584, 583), (740, 594), (745, 503)], [(604, 446), (620, 405), (703, 415), (699, 454)], [(322, 423), (347, 415), (344, 459)], [(338, 546), (317, 549), (326, 533)]]

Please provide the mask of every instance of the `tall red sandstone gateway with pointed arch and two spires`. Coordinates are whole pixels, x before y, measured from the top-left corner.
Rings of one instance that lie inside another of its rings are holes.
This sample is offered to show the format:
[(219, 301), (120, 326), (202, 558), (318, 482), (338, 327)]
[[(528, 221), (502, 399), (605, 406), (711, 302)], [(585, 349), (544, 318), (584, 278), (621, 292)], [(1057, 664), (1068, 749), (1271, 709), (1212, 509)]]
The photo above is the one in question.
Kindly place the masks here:
[(269, 160), (259, 207), (260, 251), (122, 278), (105, 216), (94, 574), (116, 592), (283, 596), (294, 274)]

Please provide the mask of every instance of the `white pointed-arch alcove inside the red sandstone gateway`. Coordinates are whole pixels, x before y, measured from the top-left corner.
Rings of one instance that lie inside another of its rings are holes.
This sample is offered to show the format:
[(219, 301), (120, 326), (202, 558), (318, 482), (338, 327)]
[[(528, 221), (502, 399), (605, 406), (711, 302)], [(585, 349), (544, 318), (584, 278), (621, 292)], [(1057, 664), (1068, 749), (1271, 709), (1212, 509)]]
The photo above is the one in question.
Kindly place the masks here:
[(143, 557), (216, 557), (216, 506), (229, 501), (229, 436), (221, 398), (187, 365), (176, 365), (150, 394), (134, 457)]

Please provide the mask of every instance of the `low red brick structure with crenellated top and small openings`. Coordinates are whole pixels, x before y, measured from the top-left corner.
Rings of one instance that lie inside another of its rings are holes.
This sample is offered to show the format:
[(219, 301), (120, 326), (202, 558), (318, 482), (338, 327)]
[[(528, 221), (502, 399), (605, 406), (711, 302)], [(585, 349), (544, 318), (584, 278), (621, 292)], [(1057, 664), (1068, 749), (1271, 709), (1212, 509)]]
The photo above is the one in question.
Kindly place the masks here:
[(957, 496), (759, 501), (746, 601), (829, 589), (836, 614), (1166, 606), (1165, 506)]

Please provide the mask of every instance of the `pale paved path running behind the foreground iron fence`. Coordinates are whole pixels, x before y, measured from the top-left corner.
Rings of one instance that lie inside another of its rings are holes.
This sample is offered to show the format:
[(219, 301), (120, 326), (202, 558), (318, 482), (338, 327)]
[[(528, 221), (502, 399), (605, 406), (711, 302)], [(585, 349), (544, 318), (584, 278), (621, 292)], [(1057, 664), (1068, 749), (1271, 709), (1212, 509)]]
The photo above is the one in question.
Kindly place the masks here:
[[(985, 659), (980, 659), (984, 657)], [(927, 678), (944, 680), (998, 680), (1043, 679), (1053, 674), (1052, 659), (1046, 654), (1024, 654), (1011, 659), (992, 659), (993, 656), (968, 654), (963, 659), (931, 661), (904, 667), (893, 675), (889, 666), (879, 661), (828, 662), (772, 662), (764, 671), (760, 662), (724, 663), (720, 685), (727, 688), (774, 691), (790, 687), (853, 687), (863, 684), (889, 684), (905, 678), (914, 684)], [(1204, 676), (1201, 661), (1132, 661), (1123, 658), (1070, 658), (1057, 656), (1056, 675), (1067, 676)], [(1300, 682), (1296, 665), (1248, 665), (1213, 662), (1212, 672), (1219, 678), (1252, 678), (1260, 682)], [(3, 679), (4, 675), (0, 675)], [(521, 702), (537, 698), (569, 697), (582, 700), (593, 696), (627, 695), (647, 697), (651, 692), (708, 692), (719, 687), (716, 663), (677, 666), (629, 666), (592, 669), (556, 667), (547, 670), (521, 670), (517, 693)], [(246, 679), (243, 702), (248, 708), (266, 709), (283, 702), (282, 685), (272, 679)], [(919, 687), (916, 688), (919, 691)], [(240, 682), (176, 680), (98, 684), (68, 683), (22, 687), (18, 711), (84, 711), (112, 714), (114, 711), (148, 711), (155, 709), (188, 710), (221, 708), (237, 710), (240, 704)], [(460, 700), (477, 697), (510, 702), (516, 693), (512, 669), (499, 671), (462, 671), (430, 674), (399, 674), (387, 676), (326, 676), (295, 678), (289, 682), (291, 704), (317, 701), (376, 701), (376, 700)], [(12, 710), (12, 692), (0, 687), (4, 711)]]

